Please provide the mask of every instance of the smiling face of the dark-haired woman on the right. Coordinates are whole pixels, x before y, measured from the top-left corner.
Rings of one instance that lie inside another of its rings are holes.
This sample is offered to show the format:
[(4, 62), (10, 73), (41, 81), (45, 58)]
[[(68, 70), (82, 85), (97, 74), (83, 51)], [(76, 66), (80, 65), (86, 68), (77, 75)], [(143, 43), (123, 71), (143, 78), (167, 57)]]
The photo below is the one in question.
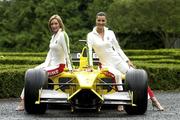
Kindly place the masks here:
[(106, 16), (97, 16), (96, 17), (96, 26), (98, 30), (103, 30), (106, 25)]

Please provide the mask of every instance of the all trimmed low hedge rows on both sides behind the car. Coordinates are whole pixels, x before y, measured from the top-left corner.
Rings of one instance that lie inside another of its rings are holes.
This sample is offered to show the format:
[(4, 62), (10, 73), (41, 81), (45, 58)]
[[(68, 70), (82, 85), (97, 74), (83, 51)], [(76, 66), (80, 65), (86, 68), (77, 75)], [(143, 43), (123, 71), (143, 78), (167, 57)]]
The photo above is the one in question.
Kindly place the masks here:
[[(149, 75), (155, 90), (180, 90), (180, 50), (126, 50), (131, 61)], [(19, 97), (24, 74), (45, 60), (46, 53), (0, 52), (0, 98)]]

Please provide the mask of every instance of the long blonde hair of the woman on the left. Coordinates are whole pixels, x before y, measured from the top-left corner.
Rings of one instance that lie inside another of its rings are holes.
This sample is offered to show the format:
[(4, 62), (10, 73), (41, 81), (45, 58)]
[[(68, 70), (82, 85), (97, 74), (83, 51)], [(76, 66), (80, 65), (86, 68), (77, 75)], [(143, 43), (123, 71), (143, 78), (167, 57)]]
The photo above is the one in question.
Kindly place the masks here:
[(50, 17), (49, 22), (48, 22), (49, 29), (51, 30), (51, 21), (53, 19), (56, 19), (58, 21), (58, 23), (60, 25), (60, 28), (62, 29), (62, 31), (64, 31), (65, 30), (64, 24), (63, 24), (63, 21), (62, 21), (62, 19), (61, 19), (61, 17), (59, 15), (53, 15), (53, 16)]

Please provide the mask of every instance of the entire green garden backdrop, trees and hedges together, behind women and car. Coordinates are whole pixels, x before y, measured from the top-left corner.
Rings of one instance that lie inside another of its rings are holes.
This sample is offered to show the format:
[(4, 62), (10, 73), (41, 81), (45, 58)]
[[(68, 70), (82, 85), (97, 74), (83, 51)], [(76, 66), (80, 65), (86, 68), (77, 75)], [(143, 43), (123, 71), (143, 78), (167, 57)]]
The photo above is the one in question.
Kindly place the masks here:
[(180, 90), (179, 6), (179, 0), (1, 0), (0, 98), (18, 97), (25, 71), (44, 61), (50, 16), (62, 17), (77, 53), (99, 11), (131, 61), (148, 72), (152, 89)]

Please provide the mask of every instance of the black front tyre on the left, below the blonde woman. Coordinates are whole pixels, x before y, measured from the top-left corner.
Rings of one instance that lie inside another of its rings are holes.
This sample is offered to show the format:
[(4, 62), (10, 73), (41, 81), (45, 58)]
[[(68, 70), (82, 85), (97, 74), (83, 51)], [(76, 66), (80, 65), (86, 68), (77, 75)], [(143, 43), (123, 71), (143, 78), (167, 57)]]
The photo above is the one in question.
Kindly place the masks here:
[(24, 105), (29, 114), (43, 114), (47, 104), (35, 104), (39, 97), (39, 89), (47, 88), (48, 75), (42, 69), (29, 69), (25, 74)]

